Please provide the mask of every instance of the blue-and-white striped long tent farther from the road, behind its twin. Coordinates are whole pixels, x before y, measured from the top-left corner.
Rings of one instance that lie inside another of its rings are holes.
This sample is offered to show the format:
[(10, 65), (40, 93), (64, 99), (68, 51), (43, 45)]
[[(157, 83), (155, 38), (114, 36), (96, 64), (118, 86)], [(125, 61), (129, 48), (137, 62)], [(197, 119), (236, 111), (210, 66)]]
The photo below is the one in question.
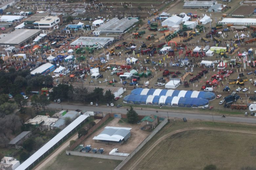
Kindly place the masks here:
[(153, 96), (177, 96), (185, 98), (203, 98), (207, 100), (215, 99), (216, 95), (212, 92), (186, 91), (186, 90), (166, 90), (166, 89), (142, 89), (132, 90), (135, 95), (153, 95)]

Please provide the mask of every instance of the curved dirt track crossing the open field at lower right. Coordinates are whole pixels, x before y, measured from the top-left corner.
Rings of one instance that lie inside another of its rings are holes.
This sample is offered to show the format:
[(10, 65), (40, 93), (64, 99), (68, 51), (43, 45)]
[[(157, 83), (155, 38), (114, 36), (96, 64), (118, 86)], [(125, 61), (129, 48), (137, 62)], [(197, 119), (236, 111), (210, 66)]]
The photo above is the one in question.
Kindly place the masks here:
[(168, 133), (168, 134), (160, 137), (153, 145), (151, 145), (151, 147), (148, 147), (148, 149), (144, 151), (144, 153), (141, 157), (137, 158), (137, 160), (135, 162), (128, 163), (124, 169), (127, 169), (127, 170), (136, 169), (136, 167), (139, 165), (140, 161), (145, 159), (145, 157), (149, 154), (149, 152), (151, 152), (163, 140), (165, 140), (166, 138), (168, 138), (176, 133), (180, 133), (180, 132), (184, 132), (184, 131), (188, 131), (188, 130), (218, 130), (218, 131), (256, 134), (256, 132), (250, 132), (250, 131), (244, 131), (244, 130), (230, 130), (230, 129), (221, 129), (221, 128), (209, 128), (209, 127), (193, 127), (193, 128), (183, 128), (183, 129), (175, 130), (171, 133)]

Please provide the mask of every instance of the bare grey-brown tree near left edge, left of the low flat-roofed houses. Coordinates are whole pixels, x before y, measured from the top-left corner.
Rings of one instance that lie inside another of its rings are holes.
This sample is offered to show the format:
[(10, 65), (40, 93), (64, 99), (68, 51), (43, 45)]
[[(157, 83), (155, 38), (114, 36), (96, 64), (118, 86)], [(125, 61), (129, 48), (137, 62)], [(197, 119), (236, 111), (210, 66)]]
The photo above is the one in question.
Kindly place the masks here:
[(14, 114), (5, 116), (5, 121), (6, 126), (11, 129), (13, 134), (22, 126), (20, 117)]

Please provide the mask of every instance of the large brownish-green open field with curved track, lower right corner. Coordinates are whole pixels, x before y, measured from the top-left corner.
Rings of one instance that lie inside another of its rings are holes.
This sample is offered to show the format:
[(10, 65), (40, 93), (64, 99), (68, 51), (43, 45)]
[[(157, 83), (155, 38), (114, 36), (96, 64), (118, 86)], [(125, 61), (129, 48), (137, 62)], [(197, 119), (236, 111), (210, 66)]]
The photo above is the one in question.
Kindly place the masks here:
[(255, 134), (251, 125), (172, 120), (123, 169), (256, 168)]

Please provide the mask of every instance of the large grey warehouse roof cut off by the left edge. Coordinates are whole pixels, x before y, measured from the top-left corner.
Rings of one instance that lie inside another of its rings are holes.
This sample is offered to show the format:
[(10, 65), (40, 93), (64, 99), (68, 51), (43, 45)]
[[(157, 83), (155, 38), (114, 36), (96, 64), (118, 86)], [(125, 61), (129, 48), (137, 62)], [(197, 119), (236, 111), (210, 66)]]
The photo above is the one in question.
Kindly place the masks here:
[[(10, 34), (2, 34), (0, 44), (20, 44), (42, 32), (41, 29), (15, 29)], [(4, 36), (3, 36), (4, 35)]]

